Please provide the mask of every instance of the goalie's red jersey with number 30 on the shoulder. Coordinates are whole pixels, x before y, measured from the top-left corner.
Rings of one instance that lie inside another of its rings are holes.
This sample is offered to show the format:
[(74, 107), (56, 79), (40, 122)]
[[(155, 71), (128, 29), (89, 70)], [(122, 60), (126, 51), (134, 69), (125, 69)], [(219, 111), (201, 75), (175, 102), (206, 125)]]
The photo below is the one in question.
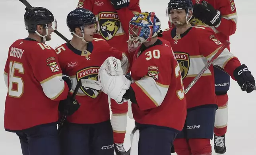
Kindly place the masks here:
[(140, 124), (182, 130), (186, 118), (186, 99), (180, 68), (170, 43), (157, 40), (154, 46), (135, 51), (130, 86), (138, 104), (132, 113)]

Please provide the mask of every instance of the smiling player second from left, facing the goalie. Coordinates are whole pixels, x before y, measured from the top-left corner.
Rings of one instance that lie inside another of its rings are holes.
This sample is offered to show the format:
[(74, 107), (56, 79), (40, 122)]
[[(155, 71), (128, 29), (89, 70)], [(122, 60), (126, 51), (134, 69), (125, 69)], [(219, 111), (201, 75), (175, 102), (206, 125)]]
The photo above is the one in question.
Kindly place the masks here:
[[(56, 47), (60, 68), (72, 79), (72, 90), (81, 79), (97, 80), (101, 64), (107, 57), (113, 56), (122, 60), (125, 73), (129, 68), (125, 53), (111, 47), (101, 38), (93, 38), (97, 32), (95, 15), (87, 9), (78, 8), (67, 16), (67, 25), (72, 32), (70, 42)], [(110, 121), (108, 96), (101, 91), (81, 86), (76, 99), (80, 109), (67, 117), (61, 139), (61, 155), (113, 155), (113, 128), (125, 130), (127, 119), (126, 105), (111, 100), (112, 113), (121, 113)], [(125, 109), (120, 111), (120, 109)], [(122, 113), (124, 113), (122, 115)], [(118, 121), (116, 121), (118, 120)], [(122, 121), (122, 123), (120, 123)]]

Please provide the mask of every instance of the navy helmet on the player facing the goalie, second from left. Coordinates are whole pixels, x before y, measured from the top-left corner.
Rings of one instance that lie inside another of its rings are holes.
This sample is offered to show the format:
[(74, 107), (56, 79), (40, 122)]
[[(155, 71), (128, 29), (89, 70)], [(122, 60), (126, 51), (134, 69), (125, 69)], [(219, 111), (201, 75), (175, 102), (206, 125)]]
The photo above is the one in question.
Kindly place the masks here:
[(75, 28), (78, 27), (83, 33), (83, 26), (91, 24), (97, 24), (97, 21), (95, 15), (90, 10), (77, 8), (68, 13), (67, 26), (70, 32), (74, 32)]

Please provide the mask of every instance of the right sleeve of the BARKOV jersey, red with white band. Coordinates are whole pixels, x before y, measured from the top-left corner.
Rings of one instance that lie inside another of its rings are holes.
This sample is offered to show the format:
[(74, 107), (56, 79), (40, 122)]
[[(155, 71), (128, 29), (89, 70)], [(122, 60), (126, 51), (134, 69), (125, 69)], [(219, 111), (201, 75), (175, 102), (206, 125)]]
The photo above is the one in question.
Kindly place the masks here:
[(62, 70), (54, 49), (43, 43), (37, 43), (34, 49), (40, 52), (31, 52), (31, 67), (45, 95), (51, 100), (66, 99), (68, 85), (62, 80)]

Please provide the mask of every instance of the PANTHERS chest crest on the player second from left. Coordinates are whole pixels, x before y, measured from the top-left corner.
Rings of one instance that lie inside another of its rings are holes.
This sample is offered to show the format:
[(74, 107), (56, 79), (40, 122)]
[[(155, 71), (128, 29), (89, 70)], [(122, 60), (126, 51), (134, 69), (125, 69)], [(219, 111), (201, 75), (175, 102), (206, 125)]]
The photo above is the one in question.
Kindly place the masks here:
[[(80, 79), (93, 79), (98, 80), (99, 67), (89, 67), (84, 68), (76, 73), (76, 79), (79, 81)], [(80, 89), (85, 93), (85, 95), (90, 96), (91, 98), (96, 98), (101, 90), (95, 90), (87, 87), (81, 86)]]

